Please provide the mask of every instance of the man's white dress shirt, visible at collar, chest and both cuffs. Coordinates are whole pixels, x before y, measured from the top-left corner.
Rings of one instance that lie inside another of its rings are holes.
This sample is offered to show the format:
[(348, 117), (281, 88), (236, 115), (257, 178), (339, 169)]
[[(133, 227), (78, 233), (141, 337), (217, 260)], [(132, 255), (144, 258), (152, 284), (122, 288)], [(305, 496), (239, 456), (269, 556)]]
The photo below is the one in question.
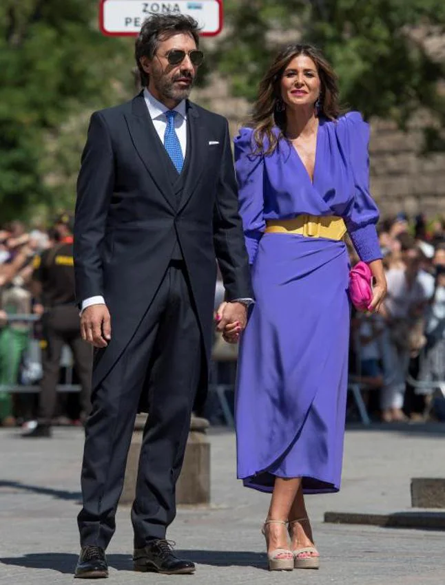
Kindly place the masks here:
[[(165, 116), (165, 112), (168, 108), (158, 101), (147, 88), (144, 89), (144, 98), (145, 103), (147, 104), (148, 113), (150, 118), (152, 118), (152, 122), (154, 125), (154, 129), (156, 130), (159, 139), (161, 140), (162, 144), (164, 144), (164, 135), (165, 129), (167, 128), (167, 116)], [(183, 157), (185, 159), (185, 155), (187, 152), (187, 111), (185, 107), (185, 100), (178, 103), (174, 110), (178, 112), (178, 116), (174, 119), (174, 127), (176, 130), (176, 134), (179, 139), (180, 148), (183, 151)], [(246, 304), (250, 304), (253, 302), (252, 299), (236, 299), (237, 301), (243, 301)], [(81, 312), (85, 310), (87, 307), (91, 305), (105, 305), (105, 299), (102, 296), (96, 297), (89, 297), (82, 301), (82, 308)]]

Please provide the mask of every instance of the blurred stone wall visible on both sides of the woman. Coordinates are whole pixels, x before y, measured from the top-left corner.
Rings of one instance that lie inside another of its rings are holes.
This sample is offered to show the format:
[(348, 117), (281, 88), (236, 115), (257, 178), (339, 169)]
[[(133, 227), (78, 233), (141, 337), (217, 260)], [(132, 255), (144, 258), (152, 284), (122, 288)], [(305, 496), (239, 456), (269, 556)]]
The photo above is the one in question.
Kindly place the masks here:
[[(192, 98), (225, 116), (232, 136), (249, 111), (246, 100), (230, 96), (227, 83), (217, 77), (205, 89), (196, 89)], [(391, 121), (371, 121), (371, 193), (382, 216), (399, 211), (445, 216), (445, 153), (421, 155), (426, 123), (419, 114), (404, 132)]]

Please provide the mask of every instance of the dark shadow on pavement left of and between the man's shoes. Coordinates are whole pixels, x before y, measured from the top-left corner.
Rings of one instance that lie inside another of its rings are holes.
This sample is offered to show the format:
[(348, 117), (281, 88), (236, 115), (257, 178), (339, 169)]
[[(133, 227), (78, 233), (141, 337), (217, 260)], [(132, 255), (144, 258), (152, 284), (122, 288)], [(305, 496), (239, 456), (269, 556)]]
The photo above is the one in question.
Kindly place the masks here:
[[(24, 568), (50, 568), (64, 574), (74, 574), (79, 555), (70, 553), (31, 553), (23, 557), (0, 558), (0, 563)], [(108, 565), (118, 571), (132, 571), (131, 555), (107, 555)]]

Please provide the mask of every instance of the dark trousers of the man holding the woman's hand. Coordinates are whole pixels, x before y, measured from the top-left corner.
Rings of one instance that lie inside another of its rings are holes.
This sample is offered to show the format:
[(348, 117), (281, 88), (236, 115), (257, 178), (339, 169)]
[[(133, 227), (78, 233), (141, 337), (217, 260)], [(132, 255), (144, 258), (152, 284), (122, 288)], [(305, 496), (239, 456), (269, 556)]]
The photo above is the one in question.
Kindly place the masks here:
[(187, 277), (181, 263), (171, 264), (132, 341), (92, 393), (78, 517), (82, 546), (106, 548), (114, 533), (143, 392), (149, 414), (132, 507), (134, 546), (165, 538), (176, 515), (175, 486), (200, 380), (201, 343)]

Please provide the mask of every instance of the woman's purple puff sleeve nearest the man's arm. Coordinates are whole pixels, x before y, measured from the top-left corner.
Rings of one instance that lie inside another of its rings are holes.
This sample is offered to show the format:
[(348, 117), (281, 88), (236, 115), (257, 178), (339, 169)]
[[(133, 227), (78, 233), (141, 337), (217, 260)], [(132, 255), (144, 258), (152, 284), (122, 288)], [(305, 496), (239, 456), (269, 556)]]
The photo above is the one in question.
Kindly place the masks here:
[(253, 154), (255, 143), (251, 128), (241, 128), (240, 134), (234, 140), (234, 145), (239, 211), (249, 264), (253, 264), (266, 226), (263, 217), (264, 158), (261, 154)]

